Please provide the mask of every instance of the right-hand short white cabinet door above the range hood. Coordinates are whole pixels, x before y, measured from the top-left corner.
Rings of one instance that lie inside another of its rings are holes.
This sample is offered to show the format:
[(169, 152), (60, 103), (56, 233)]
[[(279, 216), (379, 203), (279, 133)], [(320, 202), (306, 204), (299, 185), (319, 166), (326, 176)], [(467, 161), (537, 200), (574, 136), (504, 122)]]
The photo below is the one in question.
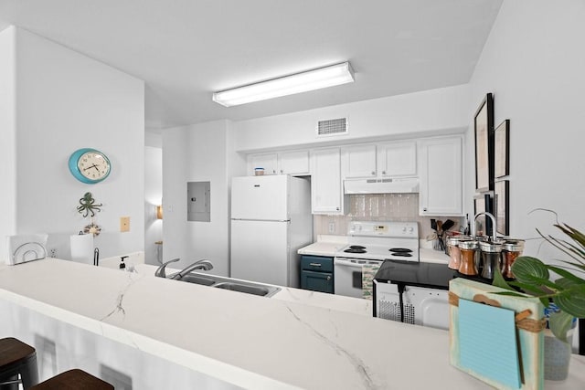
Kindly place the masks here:
[(378, 176), (416, 176), (416, 174), (416, 142), (385, 142), (378, 144)]

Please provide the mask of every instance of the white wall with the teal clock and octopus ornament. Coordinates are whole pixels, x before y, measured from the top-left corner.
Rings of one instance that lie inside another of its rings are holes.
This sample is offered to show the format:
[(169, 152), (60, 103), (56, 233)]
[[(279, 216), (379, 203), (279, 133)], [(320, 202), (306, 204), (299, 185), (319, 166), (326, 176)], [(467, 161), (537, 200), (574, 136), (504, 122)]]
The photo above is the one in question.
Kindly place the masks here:
[[(26, 30), (14, 31), (12, 165), (18, 180), (6, 191), (17, 199), (9, 205), (16, 210), (16, 226), (3, 233), (47, 232), (48, 248), (69, 258), (69, 235), (89, 223), (76, 206), (90, 191), (103, 204), (95, 240), (101, 256), (143, 250), (144, 82)], [(110, 157), (112, 174), (104, 182), (82, 184), (69, 174), (69, 155), (83, 147)], [(130, 216), (130, 232), (120, 233), (120, 216)]]

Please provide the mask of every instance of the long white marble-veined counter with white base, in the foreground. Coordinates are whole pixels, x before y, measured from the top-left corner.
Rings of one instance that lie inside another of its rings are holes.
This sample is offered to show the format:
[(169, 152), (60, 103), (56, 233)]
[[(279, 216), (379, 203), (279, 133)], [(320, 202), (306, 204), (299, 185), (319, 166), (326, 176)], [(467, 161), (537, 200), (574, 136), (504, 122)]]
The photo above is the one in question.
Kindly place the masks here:
[[(58, 371), (109, 364), (138, 389), (488, 388), (449, 364), (448, 332), (53, 258), (0, 266), (0, 315), (2, 337), (75, 356)], [(584, 373), (574, 356), (547, 387)]]

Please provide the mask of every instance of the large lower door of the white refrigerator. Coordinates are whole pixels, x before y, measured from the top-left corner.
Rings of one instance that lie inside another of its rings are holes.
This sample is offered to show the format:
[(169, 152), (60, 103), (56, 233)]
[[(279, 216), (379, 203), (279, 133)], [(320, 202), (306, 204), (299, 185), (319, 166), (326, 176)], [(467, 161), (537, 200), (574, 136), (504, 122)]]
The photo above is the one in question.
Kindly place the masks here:
[(231, 277), (290, 285), (288, 222), (231, 221)]

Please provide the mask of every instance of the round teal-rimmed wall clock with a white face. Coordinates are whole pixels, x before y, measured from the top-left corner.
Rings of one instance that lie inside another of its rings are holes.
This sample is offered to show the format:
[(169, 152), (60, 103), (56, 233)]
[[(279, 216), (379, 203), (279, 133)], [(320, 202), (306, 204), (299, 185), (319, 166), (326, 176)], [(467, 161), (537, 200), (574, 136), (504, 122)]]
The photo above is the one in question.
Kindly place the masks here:
[(69, 171), (81, 183), (100, 183), (111, 170), (112, 164), (108, 157), (95, 149), (79, 149), (69, 157)]

